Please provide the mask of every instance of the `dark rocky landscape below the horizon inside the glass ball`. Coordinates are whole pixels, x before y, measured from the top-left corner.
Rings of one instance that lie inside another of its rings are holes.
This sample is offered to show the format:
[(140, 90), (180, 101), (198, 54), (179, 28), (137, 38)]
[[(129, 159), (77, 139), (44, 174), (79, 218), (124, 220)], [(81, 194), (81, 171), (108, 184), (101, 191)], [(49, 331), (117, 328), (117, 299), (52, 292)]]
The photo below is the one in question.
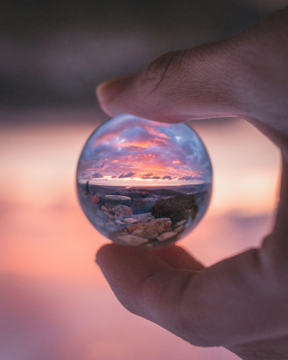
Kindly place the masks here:
[[(131, 199), (108, 201), (107, 194)], [(192, 230), (206, 211), (210, 194), (209, 184), (149, 189), (91, 185), (90, 194), (85, 184), (78, 184), (82, 209), (101, 234), (116, 243), (143, 247), (174, 243)]]

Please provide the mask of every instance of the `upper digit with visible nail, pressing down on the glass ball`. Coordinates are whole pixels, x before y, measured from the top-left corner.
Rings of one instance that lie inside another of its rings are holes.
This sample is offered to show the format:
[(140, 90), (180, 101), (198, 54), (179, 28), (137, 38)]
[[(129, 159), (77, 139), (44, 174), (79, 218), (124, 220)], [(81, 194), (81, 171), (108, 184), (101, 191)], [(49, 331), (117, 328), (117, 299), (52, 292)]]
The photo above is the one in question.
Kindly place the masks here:
[(226, 116), (266, 122), (267, 114), (271, 122), (287, 103), (287, 19), (288, 8), (229, 39), (162, 55), (134, 76), (100, 84), (99, 103), (111, 116), (163, 122)]

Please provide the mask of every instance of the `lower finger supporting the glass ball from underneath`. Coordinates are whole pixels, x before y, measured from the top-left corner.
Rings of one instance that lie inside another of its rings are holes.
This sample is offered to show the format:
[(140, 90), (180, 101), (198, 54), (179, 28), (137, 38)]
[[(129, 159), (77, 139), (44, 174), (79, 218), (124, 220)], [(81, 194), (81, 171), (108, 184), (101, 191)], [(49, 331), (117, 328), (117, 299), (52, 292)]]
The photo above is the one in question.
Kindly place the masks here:
[(107, 244), (97, 264), (126, 309), (193, 345), (231, 346), (287, 334), (287, 282), (275, 276), (260, 249), (202, 270), (176, 246), (159, 257)]

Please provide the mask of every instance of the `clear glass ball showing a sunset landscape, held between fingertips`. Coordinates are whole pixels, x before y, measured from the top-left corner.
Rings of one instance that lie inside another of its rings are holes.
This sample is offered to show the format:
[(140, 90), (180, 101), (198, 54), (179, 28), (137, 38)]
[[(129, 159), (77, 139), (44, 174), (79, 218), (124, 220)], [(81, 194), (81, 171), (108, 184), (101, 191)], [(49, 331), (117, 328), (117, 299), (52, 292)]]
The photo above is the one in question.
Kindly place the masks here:
[(119, 244), (175, 243), (201, 220), (211, 192), (209, 156), (186, 123), (123, 114), (92, 133), (78, 162), (81, 207)]

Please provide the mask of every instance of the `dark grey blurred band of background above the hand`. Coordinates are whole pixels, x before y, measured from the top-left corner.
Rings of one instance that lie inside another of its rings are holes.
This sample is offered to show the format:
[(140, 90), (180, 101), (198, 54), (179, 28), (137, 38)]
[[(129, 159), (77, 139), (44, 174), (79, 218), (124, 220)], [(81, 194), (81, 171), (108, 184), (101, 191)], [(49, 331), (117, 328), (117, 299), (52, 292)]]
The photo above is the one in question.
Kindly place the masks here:
[(169, 50), (233, 35), (283, 0), (6, 1), (0, 105), (95, 105), (95, 85)]

